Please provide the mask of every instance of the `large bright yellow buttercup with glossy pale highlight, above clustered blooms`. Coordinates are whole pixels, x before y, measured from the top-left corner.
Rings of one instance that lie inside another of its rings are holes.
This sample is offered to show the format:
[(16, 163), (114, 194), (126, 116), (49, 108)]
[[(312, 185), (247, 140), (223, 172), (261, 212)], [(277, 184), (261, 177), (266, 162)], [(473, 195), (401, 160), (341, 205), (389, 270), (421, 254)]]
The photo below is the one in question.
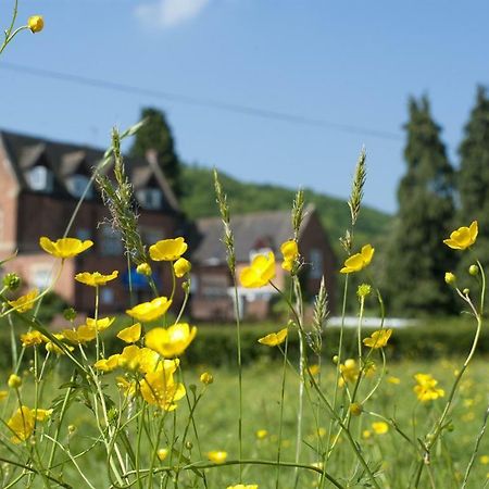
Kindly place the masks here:
[(187, 323), (177, 323), (170, 328), (151, 329), (145, 337), (145, 344), (162, 356), (178, 356), (191, 343), (196, 334), (196, 326), (190, 328)]

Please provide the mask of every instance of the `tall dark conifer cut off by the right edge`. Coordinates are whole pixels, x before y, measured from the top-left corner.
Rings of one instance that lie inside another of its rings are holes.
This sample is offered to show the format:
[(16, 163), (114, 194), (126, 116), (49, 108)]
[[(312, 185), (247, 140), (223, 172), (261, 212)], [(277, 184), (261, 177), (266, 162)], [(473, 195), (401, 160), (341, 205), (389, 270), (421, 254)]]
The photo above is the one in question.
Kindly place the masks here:
[[(484, 87), (477, 88), (476, 103), (465, 125), (464, 139), (459, 148), (460, 226), (478, 221), (477, 256), (489, 264), (489, 98)], [(472, 258), (474, 260), (474, 258)], [(460, 276), (473, 263), (464, 253)]]

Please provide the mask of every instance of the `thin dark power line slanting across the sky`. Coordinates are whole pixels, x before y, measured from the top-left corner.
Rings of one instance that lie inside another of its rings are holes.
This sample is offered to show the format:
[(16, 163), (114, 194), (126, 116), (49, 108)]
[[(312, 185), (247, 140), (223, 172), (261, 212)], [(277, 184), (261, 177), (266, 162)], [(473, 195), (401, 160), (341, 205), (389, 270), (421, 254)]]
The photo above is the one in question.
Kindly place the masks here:
[(80, 75), (72, 75), (68, 73), (61, 73), (51, 70), (45, 70), (39, 67), (26, 66), (16, 63), (0, 63), (0, 70), (7, 70), (10, 72), (23, 73), (32, 76), (38, 76), (41, 78), (50, 78), (59, 82), (67, 82), (76, 85), (84, 85), (89, 87), (102, 88), (105, 90), (116, 90), (125, 93), (141, 95), (147, 97), (154, 97), (160, 99), (170, 100), (175, 103), (184, 103), (187, 105), (205, 106), (209, 109), (215, 109), (226, 112), (234, 112), (237, 114), (244, 114), (254, 117), (262, 117), (275, 121), (287, 122), (291, 124), (301, 124), (306, 126), (326, 127), (329, 129), (338, 130), (347, 134), (355, 134), (359, 136), (372, 136), (380, 139), (389, 139), (400, 141), (402, 136), (398, 133), (391, 133), (388, 130), (371, 129), (362, 126), (354, 126), (350, 124), (339, 124), (323, 118), (311, 118), (300, 114), (292, 114), (281, 111), (273, 111), (266, 109), (260, 109), (251, 105), (241, 105), (239, 103), (223, 102), (220, 100), (204, 99), (184, 93), (176, 93), (163, 90), (154, 90), (151, 88), (137, 87), (135, 85), (120, 84), (115, 82), (109, 82), (98, 78), (91, 78)]

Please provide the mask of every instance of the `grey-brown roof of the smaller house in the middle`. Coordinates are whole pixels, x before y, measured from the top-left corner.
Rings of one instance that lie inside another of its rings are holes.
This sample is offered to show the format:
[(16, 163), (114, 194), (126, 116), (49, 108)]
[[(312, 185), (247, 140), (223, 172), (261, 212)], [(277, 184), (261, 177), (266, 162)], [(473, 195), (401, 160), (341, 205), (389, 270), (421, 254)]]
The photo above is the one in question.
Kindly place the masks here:
[[(310, 215), (315, 212), (310, 205), (304, 212), (304, 228)], [(220, 217), (206, 217), (197, 221), (200, 241), (192, 259), (202, 264), (220, 264), (226, 260), (226, 250), (222, 242), (223, 223)], [(248, 262), (250, 251), (269, 248), (278, 252), (284, 241), (292, 238), (290, 211), (266, 211), (231, 216), (236, 247), (236, 261)], [(299, 236), (300, 239), (300, 236)]]

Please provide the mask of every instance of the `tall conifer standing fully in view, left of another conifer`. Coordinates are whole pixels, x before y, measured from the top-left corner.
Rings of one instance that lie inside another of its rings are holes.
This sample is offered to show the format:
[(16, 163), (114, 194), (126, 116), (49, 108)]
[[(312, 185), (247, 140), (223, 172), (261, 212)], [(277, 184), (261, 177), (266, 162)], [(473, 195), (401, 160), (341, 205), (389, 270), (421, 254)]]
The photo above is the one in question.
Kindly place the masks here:
[(386, 264), (389, 312), (410, 316), (448, 313), (452, 291), (443, 281), (455, 253), (442, 243), (452, 230), (454, 172), (429, 102), (410, 99), (404, 160), (408, 172), (398, 189), (399, 214)]

